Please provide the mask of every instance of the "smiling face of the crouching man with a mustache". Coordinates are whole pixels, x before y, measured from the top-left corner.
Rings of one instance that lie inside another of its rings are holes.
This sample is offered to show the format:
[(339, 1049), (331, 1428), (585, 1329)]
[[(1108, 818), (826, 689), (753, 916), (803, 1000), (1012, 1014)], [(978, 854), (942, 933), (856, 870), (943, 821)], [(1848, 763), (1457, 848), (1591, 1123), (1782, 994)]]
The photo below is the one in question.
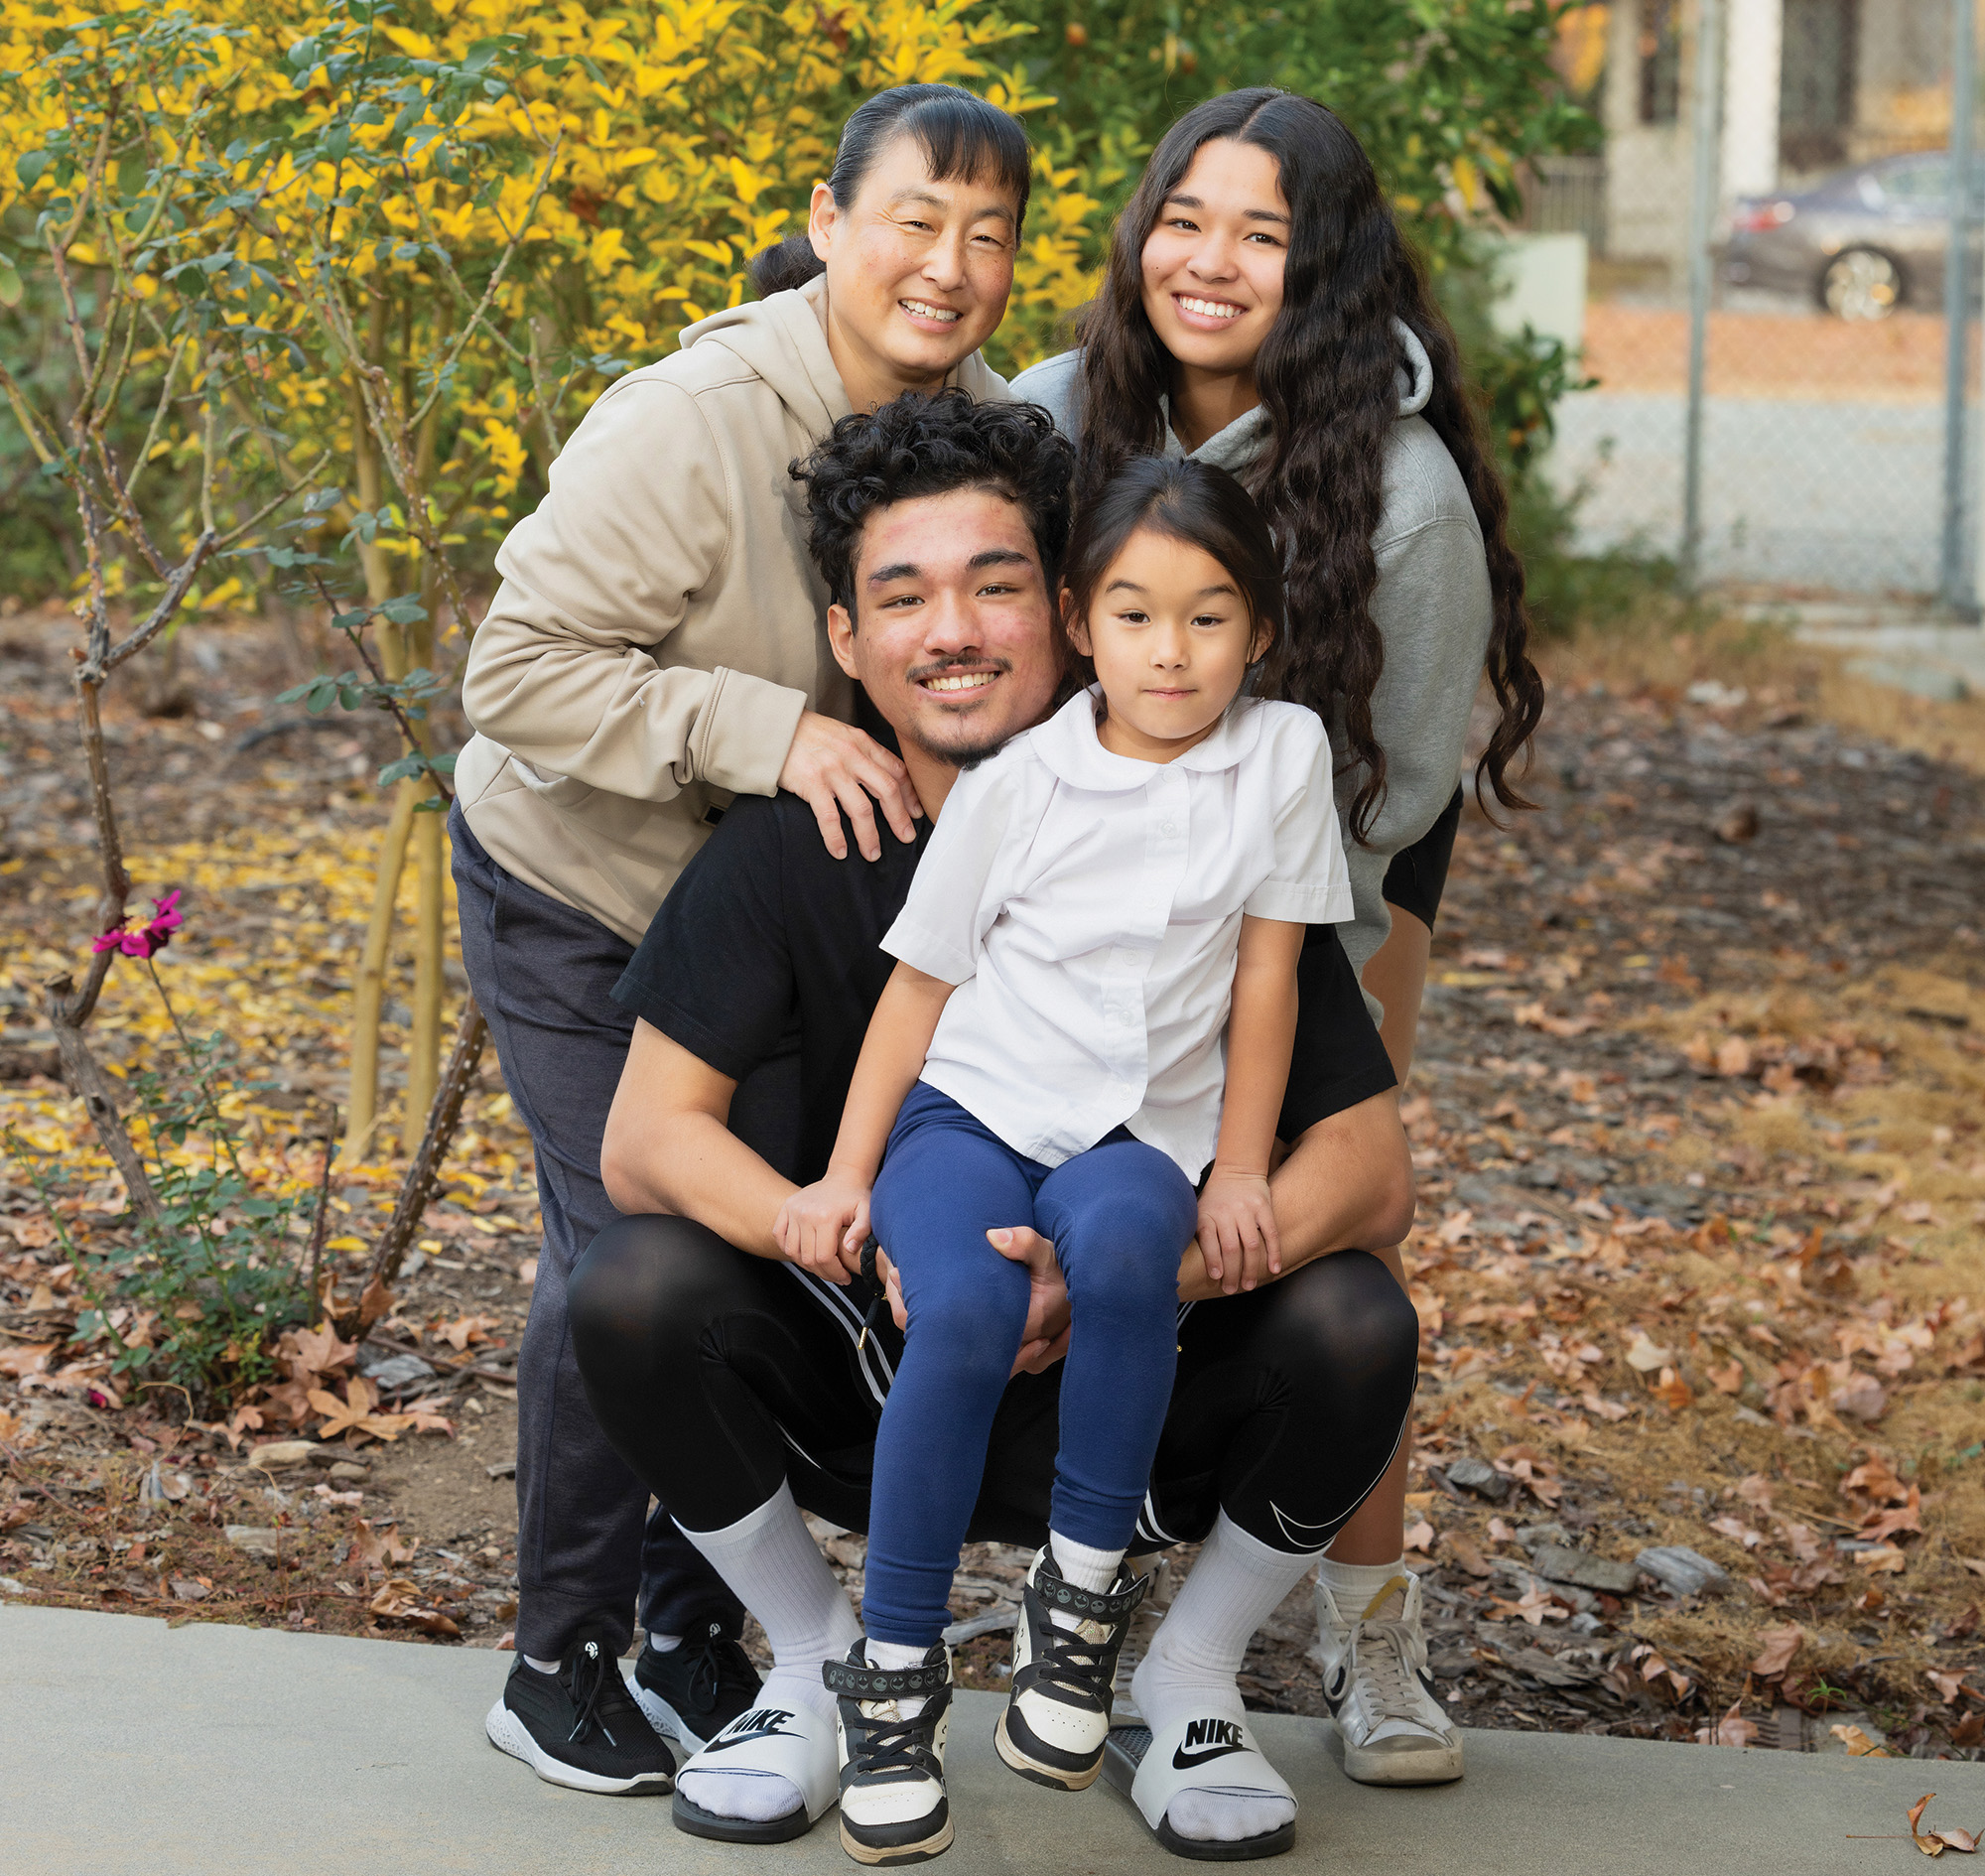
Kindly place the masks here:
[[(1062, 665), (1018, 502), (955, 488), (881, 508), (861, 530), (854, 580), (860, 617), (830, 607), (828, 643), (913, 772), (919, 754), (953, 766), (989, 756), (1046, 715)], [(935, 806), (923, 774), (917, 792)]]

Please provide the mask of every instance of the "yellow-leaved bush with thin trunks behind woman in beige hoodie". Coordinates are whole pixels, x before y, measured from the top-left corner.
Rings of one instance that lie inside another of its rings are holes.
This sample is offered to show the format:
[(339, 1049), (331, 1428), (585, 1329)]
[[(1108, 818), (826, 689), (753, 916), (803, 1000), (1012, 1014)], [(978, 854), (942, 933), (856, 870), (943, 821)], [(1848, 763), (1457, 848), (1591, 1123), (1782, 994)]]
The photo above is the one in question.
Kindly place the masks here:
[[(357, 973), (347, 1153), (375, 1122), (401, 868), (419, 877), (405, 1138), (441, 1046), (435, 671), (466, 576), (588, 403), (746, 294), (861, 97), (949, 79), (1052, 99), (1030, 28), (977, 0), (0, 0), (0, 302), (34, 292), (73, 369), (4, 387), (69, 484), (91, 603), (268, 580), (369, 665), (312, 709), (391, 709), (407, 754)], [(1008, 363), (1084, 298), (1096, 206), (1044, 173)], [(1056, 185), (1062, 185), (1056, 189)], [(453, 643), (451, 643), (453, 639)]]

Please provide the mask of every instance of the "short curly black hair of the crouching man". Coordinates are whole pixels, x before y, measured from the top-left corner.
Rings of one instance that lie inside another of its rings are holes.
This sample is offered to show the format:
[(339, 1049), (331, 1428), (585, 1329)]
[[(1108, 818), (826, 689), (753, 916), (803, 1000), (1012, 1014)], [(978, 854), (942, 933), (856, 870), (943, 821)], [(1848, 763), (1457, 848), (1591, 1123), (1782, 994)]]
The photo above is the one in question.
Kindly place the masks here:
[(806, 486), (808, 548), (836, 605), (856, 615), (856, 556), (879, 508), (955, 488), (989, 488), (1026, 516), (1048, 592), (1068, 550), (1076, 453), (1032, 403), (977, 403), (969, 391), (905, 391), (842, 417), (790, 474)]

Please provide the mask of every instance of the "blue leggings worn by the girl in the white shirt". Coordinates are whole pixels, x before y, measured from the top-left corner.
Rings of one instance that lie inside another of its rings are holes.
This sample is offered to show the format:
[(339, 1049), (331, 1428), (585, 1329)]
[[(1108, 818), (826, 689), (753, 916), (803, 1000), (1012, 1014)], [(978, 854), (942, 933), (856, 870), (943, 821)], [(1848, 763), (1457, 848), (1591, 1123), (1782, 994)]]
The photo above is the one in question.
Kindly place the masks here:
[(1122, 1550), (1171, 1400), (1179, 1257), (1199, 1207), (1177, 1163), (1122, 1128), (1050, 1169), (917, 1082), (871, 1211), (909, 1332), (875, 1435), (861, 1626), (927, 1648), (951, 1620), (951, 1576), (1026, 1328), (1026, 1267), (987, 1231), (1032, 1225), (1054, 1239), (1074, 1336), (1050, 1523), (1078, 1544)]

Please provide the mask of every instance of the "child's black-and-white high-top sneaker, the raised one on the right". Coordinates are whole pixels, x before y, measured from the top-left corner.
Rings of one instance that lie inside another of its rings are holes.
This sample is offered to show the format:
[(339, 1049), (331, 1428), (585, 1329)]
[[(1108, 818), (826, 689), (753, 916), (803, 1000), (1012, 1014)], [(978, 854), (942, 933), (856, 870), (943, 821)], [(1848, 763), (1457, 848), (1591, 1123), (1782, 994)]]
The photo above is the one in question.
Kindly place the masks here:
[[(1026, 1572), (1012, 1634), (1012, 1689), (992, 1743), (1022, 1779), (1088, 1791), (1104, 1767), (1118, 1650), (1143, 1602), (1147, 1576), (1118, 1572), (1108, 1594), (1064, 1580), (1042, 1546)], [(1074, 1618), (1068, 1628), (1056, 1616)]]

